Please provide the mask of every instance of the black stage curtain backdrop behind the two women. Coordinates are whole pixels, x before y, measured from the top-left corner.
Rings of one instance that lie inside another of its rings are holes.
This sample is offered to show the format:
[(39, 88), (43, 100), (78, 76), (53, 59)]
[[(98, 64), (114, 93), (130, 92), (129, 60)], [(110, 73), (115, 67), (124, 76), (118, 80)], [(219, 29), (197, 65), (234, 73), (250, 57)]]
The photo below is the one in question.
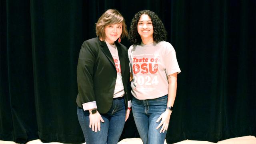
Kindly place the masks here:
[[(167, 143), (256, 136), (255, 7), (255, 0), (1, 0), (0, 140), (84, 142), (78, 54), (109, 8), (128, 29), (136, 12), (156, 12), (176, 50), (182, 72)], [(120, 139), (134, 137), (131, 114)]]

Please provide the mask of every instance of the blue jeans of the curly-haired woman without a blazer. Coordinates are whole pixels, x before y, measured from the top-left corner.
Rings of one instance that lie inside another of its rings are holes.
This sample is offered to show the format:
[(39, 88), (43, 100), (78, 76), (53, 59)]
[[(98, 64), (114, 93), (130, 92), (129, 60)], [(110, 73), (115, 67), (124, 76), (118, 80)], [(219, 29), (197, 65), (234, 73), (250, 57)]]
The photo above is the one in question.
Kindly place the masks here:
[(162, 127), (156, 122), (165, 112), (168, 95), (156, 99), (138, 100), (132, 96), (132, 114), (143, 144), (164, 144), (166, 131), (160, 133)]

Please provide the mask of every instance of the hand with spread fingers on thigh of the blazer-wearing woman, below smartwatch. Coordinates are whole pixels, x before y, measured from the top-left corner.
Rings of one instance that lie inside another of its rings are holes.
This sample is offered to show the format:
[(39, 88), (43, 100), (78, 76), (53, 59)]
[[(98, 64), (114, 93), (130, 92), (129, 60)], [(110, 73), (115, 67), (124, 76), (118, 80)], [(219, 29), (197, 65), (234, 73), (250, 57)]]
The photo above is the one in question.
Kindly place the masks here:
[(92, 131), (97, 132), (100, 131), (100, 122), (104, 122), (103, 118), (101, 117), (100, 113), (97, 111), (96, 114), (90, 114), (90, 125), (89, 127), (92, 128)]

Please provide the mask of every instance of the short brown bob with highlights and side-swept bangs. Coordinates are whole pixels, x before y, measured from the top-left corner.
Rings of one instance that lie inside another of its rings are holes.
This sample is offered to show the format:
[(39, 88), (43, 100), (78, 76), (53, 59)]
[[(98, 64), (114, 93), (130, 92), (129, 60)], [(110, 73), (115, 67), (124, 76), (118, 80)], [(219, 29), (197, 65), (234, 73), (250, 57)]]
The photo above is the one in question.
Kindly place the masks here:
[(110, 24), (119, 24), (122, 22), (122, 34), (121, 38), (128, 35), (126, 24), (123, 16), (115, 9), (108, 9), (104, 14), (102, 14), (96, 23), (96, 35), (102, 40), (105, 40), (105, 27)]

